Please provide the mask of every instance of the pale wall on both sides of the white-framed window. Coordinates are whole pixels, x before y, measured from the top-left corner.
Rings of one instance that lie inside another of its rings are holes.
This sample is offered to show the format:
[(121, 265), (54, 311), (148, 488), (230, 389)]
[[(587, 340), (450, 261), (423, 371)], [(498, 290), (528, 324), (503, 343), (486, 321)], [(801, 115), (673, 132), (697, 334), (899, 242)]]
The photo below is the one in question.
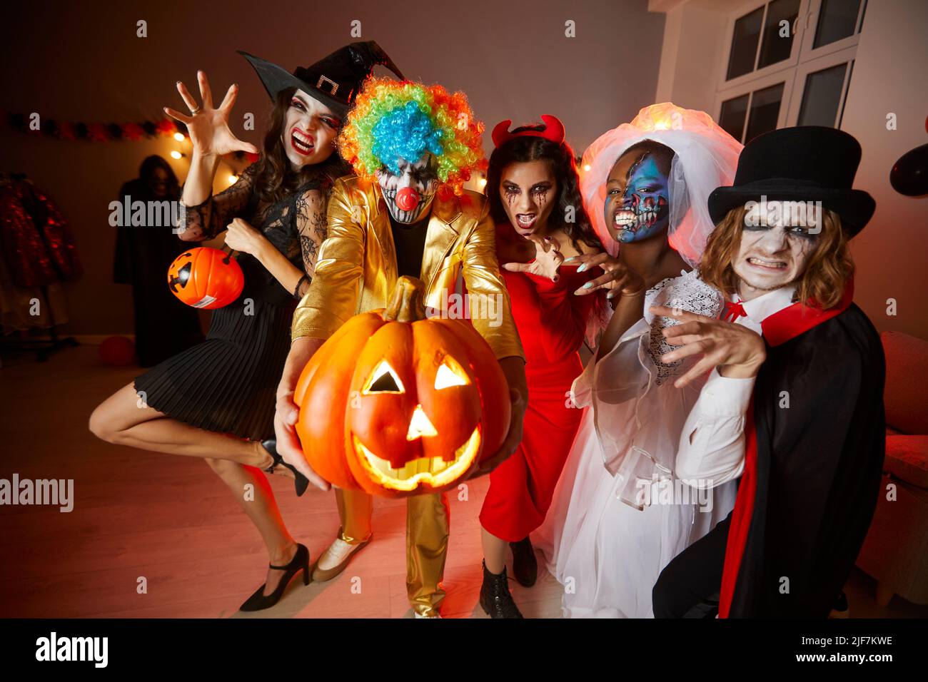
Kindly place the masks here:
[[(657, 100), (714, 113), (720, 50), (728, 11), (741, 0), (652, 0), (665, 11), (664, 45)], [(870, 0), (857, 45), (842, 129), (863, 149), (855, 187), (876, 199), (870, 225), (851, 242), (857, 263), (855, 301), (881, 331), (905, 331), (928, 339), (928, 268), (925, 227), (928, 198), (896, 193), (889, 184), (893, 163), (911, 148), (928, 144), (928, 3)], [(886, 129), (896, 113), (897, 129)], [(887, 300), (897, 315), (887, 315)]]

